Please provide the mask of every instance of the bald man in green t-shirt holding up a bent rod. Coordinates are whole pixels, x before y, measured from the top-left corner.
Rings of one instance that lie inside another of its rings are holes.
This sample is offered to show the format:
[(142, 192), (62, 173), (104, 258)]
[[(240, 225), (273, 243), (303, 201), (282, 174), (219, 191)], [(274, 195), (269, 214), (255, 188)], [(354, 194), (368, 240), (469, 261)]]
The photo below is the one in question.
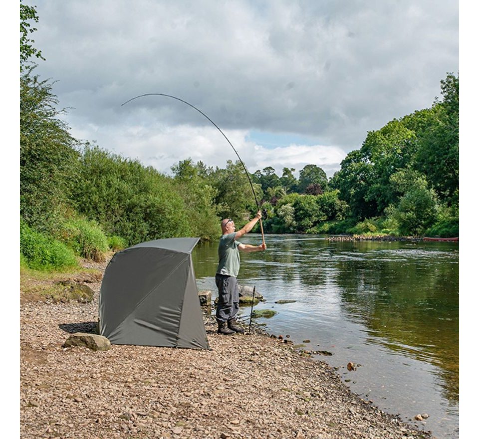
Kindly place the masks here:
[(238, 238), (250, 231), (256, 222), (261, 219), (261, 211), (240, 230), (236, 231), (233, 219), (223, 219), (221, 230), (223, 232), (218, 247), (220, 262), (216, 270), (216, 285), (218, 287), (218, 305), (216, 308), (216, 320), (218, 322), (218, 334), (231, 335), (244, 330), (236, 322), (236, 315), (240, 308), (240, 293), (238, 291), (237, 276), (240, 271), (240, 250), (246, 253), (251, 251), (266, 250), (266, 244), (249, 245), (242, 244)]

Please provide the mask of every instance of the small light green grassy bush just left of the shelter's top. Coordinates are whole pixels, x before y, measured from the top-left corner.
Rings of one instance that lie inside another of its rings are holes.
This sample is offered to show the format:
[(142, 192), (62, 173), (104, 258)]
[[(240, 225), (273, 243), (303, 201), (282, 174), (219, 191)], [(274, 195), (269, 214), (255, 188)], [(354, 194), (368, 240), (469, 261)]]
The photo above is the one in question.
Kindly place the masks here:
[(71, 247), (76, 254), (95, 261), (104, 260), (108, 251), (108, 238), (95, 221), (67, 219), (58, 230), (57, 237)]

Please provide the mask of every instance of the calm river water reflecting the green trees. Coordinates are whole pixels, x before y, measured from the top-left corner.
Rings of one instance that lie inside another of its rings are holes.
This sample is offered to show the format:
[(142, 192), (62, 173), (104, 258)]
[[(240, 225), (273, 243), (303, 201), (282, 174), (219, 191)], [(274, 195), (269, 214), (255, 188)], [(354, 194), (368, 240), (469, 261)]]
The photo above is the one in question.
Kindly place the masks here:
[[(241, 242), (257, 245), (260, 236)], [(241, 254), (238, 276), (266, 299), (255, 309), (277, 312), (257, 323), (331, 353), (314, 358), (377, 407), (438, 438), (459, 438), (459, 244), (319, 235), (266, 235), (266, 244), (265, 252)], [(217, 297), (218, 243), (199, 244), (193, 261), (199, 289)], [(295, 302), (274, 303), (282, 299)], [(414, 420), (424, 413), (426, 421)]]

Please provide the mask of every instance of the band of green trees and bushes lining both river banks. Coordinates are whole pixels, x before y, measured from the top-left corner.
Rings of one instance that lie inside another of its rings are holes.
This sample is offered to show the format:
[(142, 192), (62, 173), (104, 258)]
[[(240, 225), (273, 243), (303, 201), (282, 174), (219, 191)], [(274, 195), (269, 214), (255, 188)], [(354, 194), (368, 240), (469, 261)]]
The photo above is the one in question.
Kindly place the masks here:
[[(371, 131), (330, 179), (315, 164), (279, 177), (250, 174), (273, 233), (459, 234), (459, 77), (441, 81), (431, 108)], [(240, 162), (212, 168), (180, 161), (164, 175), (69, 134), (51, 83), (20, 78), (20, 250), (27, 265), (99, 258), (141, 241), (220, 235), (256, 204)], [(56, 256), (55, 256), (56, 255)], [(63, 259), (62, 259), (63, 260)], [(71, 263), (64, 265), (71, 265)]]

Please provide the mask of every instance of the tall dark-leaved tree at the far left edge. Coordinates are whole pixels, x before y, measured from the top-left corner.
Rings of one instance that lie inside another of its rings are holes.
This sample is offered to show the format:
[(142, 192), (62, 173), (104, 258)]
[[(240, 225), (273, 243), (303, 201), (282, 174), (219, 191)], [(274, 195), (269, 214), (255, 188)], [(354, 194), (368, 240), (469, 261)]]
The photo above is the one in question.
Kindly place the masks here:
[(51, 83), (32, 70), (20, 77), (20, 215), (45, 232), (70, 205), (79, 142), (59, 118), (63, 110), (57, 109)]

